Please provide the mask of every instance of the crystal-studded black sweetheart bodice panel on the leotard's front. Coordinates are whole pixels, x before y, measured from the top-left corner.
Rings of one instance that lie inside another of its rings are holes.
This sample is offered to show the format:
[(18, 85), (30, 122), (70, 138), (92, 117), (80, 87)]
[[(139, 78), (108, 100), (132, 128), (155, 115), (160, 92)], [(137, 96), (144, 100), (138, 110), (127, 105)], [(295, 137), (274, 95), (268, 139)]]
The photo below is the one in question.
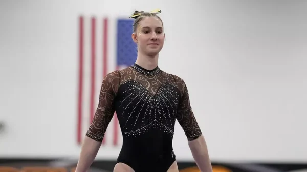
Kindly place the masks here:
[(153, 129), (173, 136), (180, 99), (176, 87), (165, 82), (156, 94), (150, 93), (148, 88), (135, 80), (126, 81), (122, 87), (125, 88), (125, 96), (120, 101), (118, 117), (124, 126), (124, 136), (137, 137)]

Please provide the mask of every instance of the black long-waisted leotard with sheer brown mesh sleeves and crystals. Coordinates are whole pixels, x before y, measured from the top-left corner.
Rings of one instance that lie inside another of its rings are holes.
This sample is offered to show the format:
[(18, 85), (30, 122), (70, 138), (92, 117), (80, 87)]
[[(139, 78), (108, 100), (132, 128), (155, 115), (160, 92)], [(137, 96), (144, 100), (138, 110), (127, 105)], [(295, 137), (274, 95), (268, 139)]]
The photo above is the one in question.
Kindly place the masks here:
[(149, 71), (134, 64), (108, 73), (86, 136), (102, 141), (115, 111), (123, 135), (117, 162), (136, 172), (164, 172), (175, 161), (172, 138), (176, 119), (188, 140), (202, 134), (185, 82), (159, 67)]

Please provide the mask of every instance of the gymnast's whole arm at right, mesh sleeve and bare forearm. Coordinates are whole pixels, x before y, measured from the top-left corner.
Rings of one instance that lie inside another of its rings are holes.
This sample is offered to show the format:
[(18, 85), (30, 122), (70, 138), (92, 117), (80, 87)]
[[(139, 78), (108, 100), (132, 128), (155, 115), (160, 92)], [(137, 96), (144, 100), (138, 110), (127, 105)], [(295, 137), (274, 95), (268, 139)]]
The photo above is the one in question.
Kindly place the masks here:
[(191, 153), (197, 166), (202, 172), (212, 172), (212, 165), (205, 138), (193, 114), (188, 89), (184, 81), (181, 80), (181, 82), (182, 97), (179, 102), (176, 118), (185, 132)]

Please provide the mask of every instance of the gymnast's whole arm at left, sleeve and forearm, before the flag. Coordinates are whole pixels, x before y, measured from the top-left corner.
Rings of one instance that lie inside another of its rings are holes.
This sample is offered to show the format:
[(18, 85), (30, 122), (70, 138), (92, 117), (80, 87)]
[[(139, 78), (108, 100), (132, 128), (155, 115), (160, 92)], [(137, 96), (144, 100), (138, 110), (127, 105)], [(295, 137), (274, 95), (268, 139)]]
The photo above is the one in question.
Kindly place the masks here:
[(113, 101), (116, 96), (118, 85), (118, 72), (107, 74), (102, 81), (98, 107), (93, 122), (91, 123), (89, 130), (87, 130), (85, 139), (83, 140), (76, 172), (84, 172), (88, 170), (97, 155), (104, 133), (114, 115), (115, 110), (113, 107)]

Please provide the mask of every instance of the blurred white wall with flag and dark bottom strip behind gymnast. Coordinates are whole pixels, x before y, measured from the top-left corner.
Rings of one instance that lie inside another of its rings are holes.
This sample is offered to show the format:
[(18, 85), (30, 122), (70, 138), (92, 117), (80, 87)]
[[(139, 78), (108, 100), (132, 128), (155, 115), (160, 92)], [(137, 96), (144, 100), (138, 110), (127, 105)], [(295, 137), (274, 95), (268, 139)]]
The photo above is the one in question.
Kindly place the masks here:
[[(106, 73), (162, 10), (162, 70), (187, 83), (214, 171), (307, 171), (307, 1), (0, 1), (0, 171), (73, 171)], [(116, 116), (115, 116), (116, 117)], [(180, 125), (180, 171), (199, 171)], [(113, 118), (91, 171), (113, 171)]]

